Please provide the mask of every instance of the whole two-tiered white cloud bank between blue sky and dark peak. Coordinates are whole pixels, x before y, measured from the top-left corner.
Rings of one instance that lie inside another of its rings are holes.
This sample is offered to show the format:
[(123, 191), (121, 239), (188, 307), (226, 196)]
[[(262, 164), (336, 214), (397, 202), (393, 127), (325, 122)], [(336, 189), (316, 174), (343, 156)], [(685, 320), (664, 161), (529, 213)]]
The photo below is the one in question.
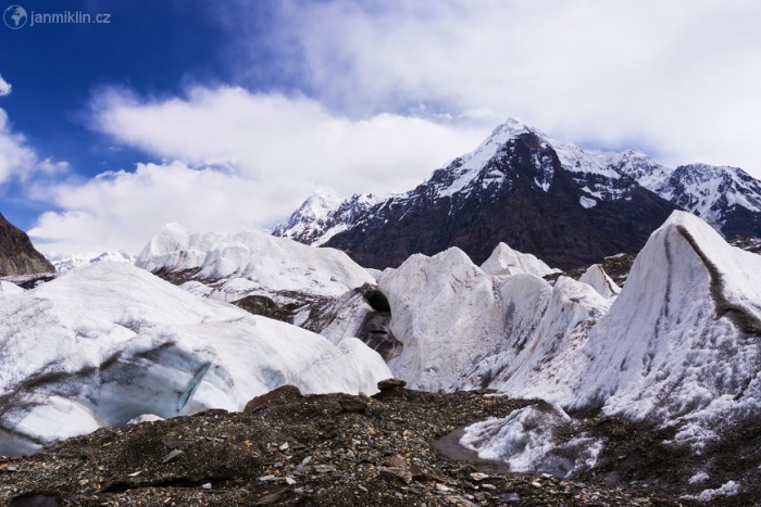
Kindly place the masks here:
[(175, 162), (36, 187), (35, 199), (61, 210), (29, 231), (48, 254), (137, 253), (167, 221), (195, 230), (274, 225), (319, 186), (407, 190), (487, 134), (389, 114), (352, 121), (312, 100), (239, 88), (163, 102), (110, 91), (93, 111), (118, 142)]

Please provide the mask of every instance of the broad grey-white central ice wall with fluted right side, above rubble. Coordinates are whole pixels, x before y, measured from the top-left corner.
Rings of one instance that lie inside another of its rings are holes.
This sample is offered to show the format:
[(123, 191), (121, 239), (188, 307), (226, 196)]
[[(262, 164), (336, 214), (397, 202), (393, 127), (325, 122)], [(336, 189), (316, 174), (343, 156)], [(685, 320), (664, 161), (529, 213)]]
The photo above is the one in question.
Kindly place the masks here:
[(553, 287), (531, 272), (491, 276), (459, 249), (413, 255), (385, 270), (378, 286), (401, 343), (388, 365), (411, 388), (427, 391), (495, 388), (523, 396), (545, 368), (567, 359), (565, 372), (575, 371), (575, 355), (610, 307), (586, 283), (560, 277)]

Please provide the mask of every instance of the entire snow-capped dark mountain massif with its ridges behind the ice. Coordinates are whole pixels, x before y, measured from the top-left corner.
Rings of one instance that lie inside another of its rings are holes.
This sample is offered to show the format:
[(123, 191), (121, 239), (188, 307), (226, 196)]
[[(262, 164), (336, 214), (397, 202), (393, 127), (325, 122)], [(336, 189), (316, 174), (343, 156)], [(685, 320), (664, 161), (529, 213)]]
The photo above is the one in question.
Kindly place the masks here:
[(761, 182), (740, 169), (669, 169), (636, 150), (586, 151), (511, 118), (413, 190), (312, 197), (273, 235), (379, 269), (451, 246), (481, 264), (500, 242), (572, 268), (638, 252), (679, 208), (725, 235), (761, 236)]

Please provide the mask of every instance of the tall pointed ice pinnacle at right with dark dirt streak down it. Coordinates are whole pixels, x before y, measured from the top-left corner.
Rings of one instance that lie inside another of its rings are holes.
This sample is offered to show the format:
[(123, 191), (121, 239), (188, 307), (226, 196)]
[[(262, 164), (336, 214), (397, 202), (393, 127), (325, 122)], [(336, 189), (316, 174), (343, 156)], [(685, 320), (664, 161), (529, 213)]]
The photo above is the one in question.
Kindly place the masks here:
[(761, 257), (675, 212), (586, 342), (507, 391), (677, 428), (700, 446), (761, 410)]

